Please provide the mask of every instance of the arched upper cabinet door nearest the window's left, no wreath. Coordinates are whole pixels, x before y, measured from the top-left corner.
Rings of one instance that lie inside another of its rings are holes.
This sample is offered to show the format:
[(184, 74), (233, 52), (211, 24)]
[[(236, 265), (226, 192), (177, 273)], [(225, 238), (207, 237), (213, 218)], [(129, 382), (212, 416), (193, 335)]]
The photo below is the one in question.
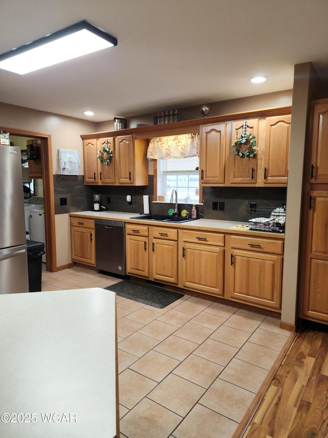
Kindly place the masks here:
[(118, 136), (115, 141), (115, 166), (118, 184), (134, 183), (134, 150), (132, 136)]

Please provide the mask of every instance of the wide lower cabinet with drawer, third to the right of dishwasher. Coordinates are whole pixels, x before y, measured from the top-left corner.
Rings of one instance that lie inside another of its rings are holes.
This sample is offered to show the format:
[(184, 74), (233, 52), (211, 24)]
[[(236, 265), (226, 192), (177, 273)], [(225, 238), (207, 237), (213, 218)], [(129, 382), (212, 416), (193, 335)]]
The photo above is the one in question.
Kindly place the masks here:
[(224, 236), (182, 231), (181, 287), (223, 296)]

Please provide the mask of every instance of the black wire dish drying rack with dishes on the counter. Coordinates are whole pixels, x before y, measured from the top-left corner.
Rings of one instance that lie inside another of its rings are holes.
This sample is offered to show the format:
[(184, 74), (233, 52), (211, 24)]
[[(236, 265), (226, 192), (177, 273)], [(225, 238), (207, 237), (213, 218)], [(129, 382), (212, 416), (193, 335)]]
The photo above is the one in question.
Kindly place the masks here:
[(269, 233), (284, 233), (286, 207), (251, 208), (249, 210), (249, 229)]

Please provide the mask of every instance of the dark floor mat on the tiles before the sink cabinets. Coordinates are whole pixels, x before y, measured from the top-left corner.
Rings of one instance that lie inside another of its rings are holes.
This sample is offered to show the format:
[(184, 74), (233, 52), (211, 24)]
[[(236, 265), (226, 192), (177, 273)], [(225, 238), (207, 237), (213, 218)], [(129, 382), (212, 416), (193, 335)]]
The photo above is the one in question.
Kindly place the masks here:
[(134, 301), (148, 304), (148, 306), (163, 309), (172, 302), (183, 297), (183, 294), (168, 291), (165, 288), (137, 281), (124, 280), (106, 288), (113, 291), (120, 297), (129, 298)]

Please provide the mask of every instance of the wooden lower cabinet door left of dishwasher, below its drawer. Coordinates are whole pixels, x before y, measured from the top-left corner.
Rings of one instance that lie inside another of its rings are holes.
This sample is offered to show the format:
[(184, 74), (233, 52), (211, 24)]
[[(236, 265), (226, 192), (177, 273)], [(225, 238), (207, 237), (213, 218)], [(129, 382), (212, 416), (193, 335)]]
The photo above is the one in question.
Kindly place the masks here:
[(71, 227), (72, 261), (95, 265), (94, 230), (78, 226)]

